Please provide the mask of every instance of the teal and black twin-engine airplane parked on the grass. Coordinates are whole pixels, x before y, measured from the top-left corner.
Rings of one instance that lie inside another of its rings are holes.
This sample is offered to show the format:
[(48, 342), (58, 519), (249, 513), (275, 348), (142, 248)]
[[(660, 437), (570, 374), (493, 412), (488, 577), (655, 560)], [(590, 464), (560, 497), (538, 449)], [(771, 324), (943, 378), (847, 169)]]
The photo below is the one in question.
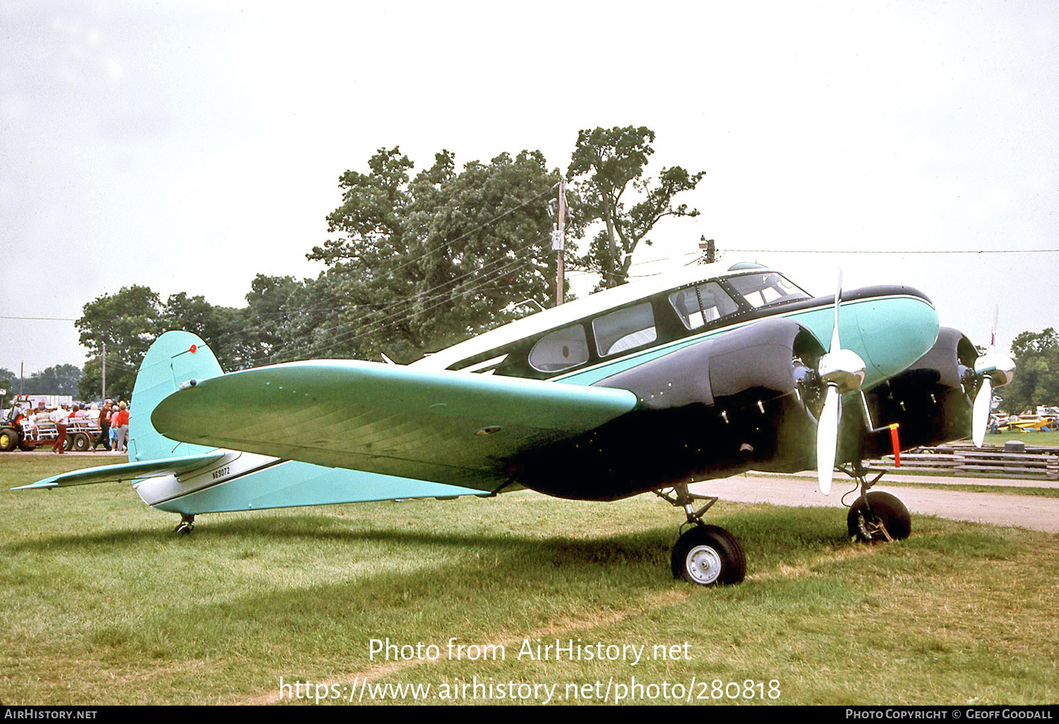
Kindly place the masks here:
[(225, 375), (200, 339), (166, 332), (137, 378), (129, 461), (19, 489), (130, 479), (145, 503), (181, 514), (178, 532), (218, 511), (520, 488), (590, 501), (653, 491), (690, 526), (674, 575), (736, 583), (742, 548), (703, 522), (717, 499), (689, 483), (816, 467), (827, 494), (838, 467), (860, 488), (850, 536), (904, 538), (908, 509), (868, 492), (879, 476), (869, 482), (861, 460), (972, 427), (981, 445), (992, 390), (1013, 372), (939, 328), (914, 289), (840, 284), (813, 297), (757, 265), (710, 265), (407, 366), (309, 360)]

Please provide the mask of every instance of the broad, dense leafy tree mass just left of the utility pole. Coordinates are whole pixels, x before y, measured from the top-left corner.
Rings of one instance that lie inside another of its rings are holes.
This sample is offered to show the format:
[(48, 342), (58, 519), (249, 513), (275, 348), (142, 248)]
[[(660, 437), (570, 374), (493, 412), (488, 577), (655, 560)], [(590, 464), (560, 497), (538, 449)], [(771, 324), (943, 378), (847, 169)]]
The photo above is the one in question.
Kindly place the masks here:
[(328, 269), (304, 301), (330, 313), (323, 339), (302, 319), (306, 347), (407, 361), (510, 321), (513, 303), (554, 298), (548, 198), (559, 174), (539, 151), (456, 171), (443, 150), (411, 178), (408, 157), (379, 149), (369, 168), (342, 175), (327, 217), (338, 236), (308, 254)]

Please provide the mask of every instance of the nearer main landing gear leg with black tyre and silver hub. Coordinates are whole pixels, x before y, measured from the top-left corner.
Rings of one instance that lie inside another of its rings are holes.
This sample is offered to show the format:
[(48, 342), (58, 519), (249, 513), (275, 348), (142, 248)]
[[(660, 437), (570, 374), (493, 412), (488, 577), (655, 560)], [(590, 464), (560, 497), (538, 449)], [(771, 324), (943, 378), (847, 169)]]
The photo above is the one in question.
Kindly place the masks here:
[[(739, 541), (724, 528), (702, 522), (702, 514), (717, 499), (689, 492), (686, 483), (674, 486), (671, 493), (656, 490), (654, 494), (674, 507), (684, 508), (687, 515), (684, 525), (692, 526), (672, 547), (672, 577), (698, 585), (741, 582), (747, 575), (747, 557)], [(706, 504), (696, 510), (696, 501)]]

